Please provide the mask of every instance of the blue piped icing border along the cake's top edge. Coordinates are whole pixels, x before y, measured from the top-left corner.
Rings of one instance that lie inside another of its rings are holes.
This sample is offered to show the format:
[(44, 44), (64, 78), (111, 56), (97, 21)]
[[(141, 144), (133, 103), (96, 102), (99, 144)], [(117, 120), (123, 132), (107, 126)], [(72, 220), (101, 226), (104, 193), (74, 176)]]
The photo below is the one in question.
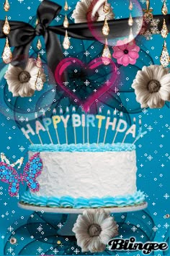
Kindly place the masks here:
[(92, 144), (63, 144), (63, 145), (30, 145), (29, 148), (32, 152), (120, 152), (120, 151), (133, 151), (135, 145), (130, 143), (115, 143), (115, 144), (103, 144), (92, 143)]

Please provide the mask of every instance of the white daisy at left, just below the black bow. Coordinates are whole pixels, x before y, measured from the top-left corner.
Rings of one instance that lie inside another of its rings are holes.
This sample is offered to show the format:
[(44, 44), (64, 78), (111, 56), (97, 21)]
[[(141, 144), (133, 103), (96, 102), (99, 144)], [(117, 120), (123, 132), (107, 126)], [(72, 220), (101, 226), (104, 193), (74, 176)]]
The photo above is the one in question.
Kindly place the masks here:
[[(9, 64), (9, 68), (4, 75), (8, 86), (9, 92), (12, 92), (14, 97), (30, 97), (35, 93), (35, 82), (37, 80), (38, 67), (34, 59), (28, 59), (25, 69), (21, 67), (14, 67)], [(45, 74), (40, 69), (40, 78), (45, 82)]]

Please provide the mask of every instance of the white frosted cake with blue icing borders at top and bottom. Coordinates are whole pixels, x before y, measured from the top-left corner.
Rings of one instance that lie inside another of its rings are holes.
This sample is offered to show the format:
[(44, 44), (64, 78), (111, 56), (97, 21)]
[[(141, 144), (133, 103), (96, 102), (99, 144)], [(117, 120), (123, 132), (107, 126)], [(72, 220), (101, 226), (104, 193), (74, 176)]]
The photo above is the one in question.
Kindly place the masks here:
[(136, 187), (135, 145), (31, 145), (40, 152), (42, 174), (38, 192), (27, 192), (21, 202), (51, 208), (125, 207), (144, 202)]

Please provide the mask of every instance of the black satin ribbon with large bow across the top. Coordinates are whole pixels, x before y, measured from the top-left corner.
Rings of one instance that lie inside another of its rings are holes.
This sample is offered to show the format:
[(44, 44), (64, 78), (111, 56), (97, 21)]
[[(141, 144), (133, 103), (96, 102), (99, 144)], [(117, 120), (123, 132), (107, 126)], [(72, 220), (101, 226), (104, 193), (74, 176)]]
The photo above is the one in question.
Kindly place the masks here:
[[(62, 7), (59, 4), (55, 4), (52, 1), (43, 0), (37, 9), (37, 18), (39, 20), (39, 24), (36, 27), (32, 27), (32, 25), (25, 22), (9, 22), (11, 27), (8, 36), (9, 43), (10, 46), (14, 46), (12, 60), (13, 65), (17, 66), (20, 64), (20, 56), (24, 56), (24, 60), (27, 61), (32, 40), (35, 38), (35, 36), (42, 35), (45, 40), (48, 67), (53, 73), (55, 72), (56, 66), (63, 59), (63, 51), (57, 34), (65, 35), (66, 28), (62, 25), (50, 26), (50, 22), (52, 22), (61, 12), (61, 8)], [(162, 15), (157, 15), (154, 18), (161, 20), (161, 23), (163, 22)], [(170, 27), (170, 15), (167, 15), (166, 22), (168, 27)], [(114, 39), (127, 35), (127, 30), (129, 30), (128, 19), (111, 20), (108, 23), (110, 28), (108, 38)], [(6, 37), (2, 31), (3, 25), (4, 20), (0, 20), (0, 38)], [(103, 38), (103, 22), (94, 22), (92, 26), (97, 35)], [(68, 28), (68, 35), (72, 38), (82, 40), (96, 40), (94, 35), (91, 34), (91, 30), (89, 30), (89, 25), (87, 23), (71, 24)]]

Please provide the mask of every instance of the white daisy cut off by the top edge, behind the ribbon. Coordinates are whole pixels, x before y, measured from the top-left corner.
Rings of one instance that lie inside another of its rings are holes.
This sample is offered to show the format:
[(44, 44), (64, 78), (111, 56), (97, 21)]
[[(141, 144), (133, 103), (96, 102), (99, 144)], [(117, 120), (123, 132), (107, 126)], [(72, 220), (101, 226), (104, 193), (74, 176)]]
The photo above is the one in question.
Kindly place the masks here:
[[(81, 0), (76, 4), (76, 9), (74, 9), (72, 17), (75, 23), (87, 22), (87, 16), (89, 12), (94, 21), (102, 21), (107, 18), (107, 20), (113, 20), (114, 14), (112, 12), (112, 7), (108, 4), (107, 12), (104, 12), (105, 0), (97, 1), (97, 4), (93, 5), (94, 0)], [(92, 8), (90, 8), (92, 7)]]

